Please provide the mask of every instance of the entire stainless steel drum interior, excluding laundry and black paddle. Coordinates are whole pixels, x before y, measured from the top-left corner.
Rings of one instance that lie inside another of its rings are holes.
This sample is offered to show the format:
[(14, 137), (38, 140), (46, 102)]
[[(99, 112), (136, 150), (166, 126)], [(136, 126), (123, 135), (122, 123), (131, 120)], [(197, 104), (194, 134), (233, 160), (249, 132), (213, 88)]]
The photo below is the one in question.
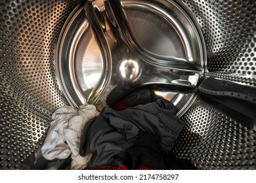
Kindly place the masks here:
[(256, 169), (255, 128), (197, 90), (209, 77), (256, 87), (256, 1), (120, 2), (0, 2), (0, 169), (26, 167), (56, 108), (96, 103), (123, 83), (177, 106), (179, 158)]

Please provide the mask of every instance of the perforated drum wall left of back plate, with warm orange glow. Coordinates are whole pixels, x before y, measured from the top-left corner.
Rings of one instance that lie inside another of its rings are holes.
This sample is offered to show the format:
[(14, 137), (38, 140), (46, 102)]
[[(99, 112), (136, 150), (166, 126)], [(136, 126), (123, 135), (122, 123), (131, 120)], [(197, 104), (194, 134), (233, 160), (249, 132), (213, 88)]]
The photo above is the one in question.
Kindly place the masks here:
[(75, 1), (0, 2), (0, 169), (18, 169), (67, 105), (54, 76), (54, 43)]

